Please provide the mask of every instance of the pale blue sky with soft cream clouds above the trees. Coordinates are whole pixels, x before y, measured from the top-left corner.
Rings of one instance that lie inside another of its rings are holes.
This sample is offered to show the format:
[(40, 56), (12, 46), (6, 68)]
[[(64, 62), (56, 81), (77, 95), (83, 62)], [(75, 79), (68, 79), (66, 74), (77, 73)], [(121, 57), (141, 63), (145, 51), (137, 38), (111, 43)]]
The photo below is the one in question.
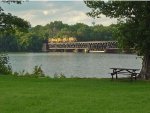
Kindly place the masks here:
[(5, 12), (21, 17), (30, 22), (31, 26), (46, 25), (53, 21), (62, 21), (65, 24), (73, 25), (84, 23), (89, 26), (94, 21), (95, 24), (108, 26), (116, 23), (116, 19), (101, 18), (93, 19), (86, 15), (89, 9), (83, 1), (28, 1), (18, 4), (6, 4), (0, 2), (0, 6)]

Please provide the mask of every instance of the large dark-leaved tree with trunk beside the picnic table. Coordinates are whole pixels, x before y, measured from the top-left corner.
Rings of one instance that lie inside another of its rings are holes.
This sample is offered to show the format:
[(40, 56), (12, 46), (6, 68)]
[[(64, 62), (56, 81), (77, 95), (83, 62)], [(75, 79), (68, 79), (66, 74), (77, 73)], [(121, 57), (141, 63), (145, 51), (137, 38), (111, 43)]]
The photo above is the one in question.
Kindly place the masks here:
[(85, 1), (92, 9), (88, 15), (101, 14), (121, 20), (119, 37), (124, 47), (133, 47), (143, 56), (141, 78), (150, 78), (150, 2), (149, 1)]

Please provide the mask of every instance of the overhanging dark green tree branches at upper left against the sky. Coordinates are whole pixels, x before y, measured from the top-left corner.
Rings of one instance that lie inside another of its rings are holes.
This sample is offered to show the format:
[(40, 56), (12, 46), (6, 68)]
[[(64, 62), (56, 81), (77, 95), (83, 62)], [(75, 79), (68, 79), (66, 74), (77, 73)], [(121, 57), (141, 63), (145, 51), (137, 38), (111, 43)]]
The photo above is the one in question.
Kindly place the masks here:
[[(17, 3), (20, 4), (21, 0), (11, 1), (11, 0), (3, 0), (4, 3)], [(16, 29), (20, 31), (28, 31), (30, 27), (30, 23), (19, 18), (17, 16), (13, 16), (10, 13), (5, 13), (2, 7), (0, 6), (0, 34), (5, 33), (14, 33)]]

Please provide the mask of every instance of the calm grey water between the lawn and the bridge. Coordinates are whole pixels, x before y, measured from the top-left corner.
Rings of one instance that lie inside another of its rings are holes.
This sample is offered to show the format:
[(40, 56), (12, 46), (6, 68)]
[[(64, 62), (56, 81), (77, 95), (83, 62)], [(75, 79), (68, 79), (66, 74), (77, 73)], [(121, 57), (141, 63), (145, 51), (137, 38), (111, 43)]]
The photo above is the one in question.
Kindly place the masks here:
[(17, 53), (9, 54), (14, 71), (32, 72), (42, 65), (46, 75), (67, 77), (110, 77), (111, 67), (141, 68), (141, 58), (130, 54), (106, 53)]

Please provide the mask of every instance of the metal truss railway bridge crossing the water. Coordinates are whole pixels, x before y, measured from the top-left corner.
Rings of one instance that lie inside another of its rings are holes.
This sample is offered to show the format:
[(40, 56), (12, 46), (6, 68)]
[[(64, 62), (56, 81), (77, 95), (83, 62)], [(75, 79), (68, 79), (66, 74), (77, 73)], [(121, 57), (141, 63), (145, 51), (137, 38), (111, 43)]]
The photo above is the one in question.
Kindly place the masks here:
[(117, 41), (47, 43), (48, 52), (100, 52), (117, 48)]

